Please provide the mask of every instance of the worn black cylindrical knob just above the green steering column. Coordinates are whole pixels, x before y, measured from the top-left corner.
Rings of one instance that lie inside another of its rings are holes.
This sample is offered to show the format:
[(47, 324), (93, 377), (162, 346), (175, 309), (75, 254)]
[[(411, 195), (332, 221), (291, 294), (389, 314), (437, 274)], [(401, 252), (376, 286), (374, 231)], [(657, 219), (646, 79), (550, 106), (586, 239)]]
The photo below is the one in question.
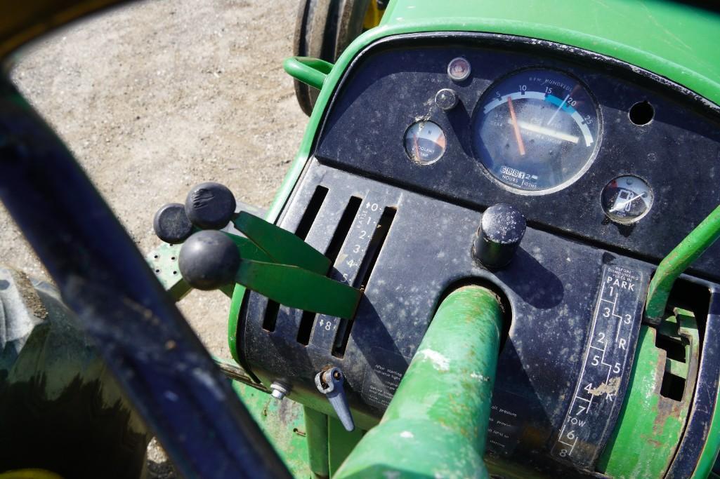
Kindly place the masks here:
[(504, 203), (490, 206), (482, 214), (473, 255), (486, 268), (503, 268), (515, 256), (525, 228), (525, 216), (514, 206)]

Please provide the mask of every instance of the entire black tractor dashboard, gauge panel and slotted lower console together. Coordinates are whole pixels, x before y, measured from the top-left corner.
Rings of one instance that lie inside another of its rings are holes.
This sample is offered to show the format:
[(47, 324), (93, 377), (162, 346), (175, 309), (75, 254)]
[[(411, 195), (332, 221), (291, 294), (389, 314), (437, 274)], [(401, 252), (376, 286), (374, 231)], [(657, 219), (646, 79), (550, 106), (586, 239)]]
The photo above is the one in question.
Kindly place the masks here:
[[(674, 332), (641, 327), (657, 263), (720, 204), (717, 115), (664, 78), (551, 42), (444, 33), (370, 45), (328, 104), (277, 222), (364, 297), (353, 319), (341, 319), (248, 292), (241, 362), (311, 402), (315, 373), (341, 368), (366, 428), (444, 295), (490, 285), (508, 325), (490, 454), (555, 477), (568, 467), (603, 472), (621, 409), (637, 406), (624, 398), (642, 338), (662, 352), (654, 392), (678, 421), (698, 407), (696, 378), (720, 374), (720, 362), (698, 367), (703, 342), (719, 333), (704, 324), (720, 301), (720, 245), (678, 283), (691, 294), (671, 298), (694, 298), (675, 306), (695, 319)], [(527, 222), (508, 265), (484, 260), (477, 246), (498, 204)], [(671, 359), (682, 368), (662, 373)], [(688, 431), (709, 421), (701, 416)]]

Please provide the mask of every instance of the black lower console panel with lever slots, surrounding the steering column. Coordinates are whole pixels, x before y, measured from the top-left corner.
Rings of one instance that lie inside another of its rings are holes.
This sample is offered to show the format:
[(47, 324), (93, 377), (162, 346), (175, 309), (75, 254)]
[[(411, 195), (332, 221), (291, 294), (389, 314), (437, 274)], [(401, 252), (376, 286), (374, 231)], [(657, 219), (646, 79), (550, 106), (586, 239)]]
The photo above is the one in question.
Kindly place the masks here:
[[(320, 204), (318, 190), (326, 190)], [(395, 216), (377, 252), (370, 233), (378, 229), (375, 225), (382, 223), (387, 209), (394, 210)], [(461, 283), (489, 283), (507, 296), (512, 324), (498, 362), (488, 448), (547, 473), (570, 467), (551, 460), (550, 452), (587, 360), (603, 268), (617, 266), (638, 273), (642, 280), (635, 286), (634, 297), (639, 298), (647, 292), (652, 265), (528, 227), (513, 261), (493, 273), (472, 256), (482, 218), (479, 211), (361, 178), (316, 160), (279, 224), (295, 231), (307, 211), (315, 214), (315, 220), (306, 241), (318, 250), (329, 252), (333, 242), (338, 242), (337, 232), (344, 233), (336, 247), (332, 275), (359, 286), (369, 274), (365, 296), (348, 325), (338, 318), (274, 306), (264, 296), (248, 294), (240, 350), (253, 373), (310, 390), (318, 371), (338, 366), (346, 375), (351, 407), (379, 418), (444, 293)], [(372, 270), (363, 271), (366, 258), (372, 256), (377, 256), (370, 263)], [(624, 396), (631, 368), (640, 311), (642, 301), (626, 311), (631, 313), (633, 332), (621, 380), (616, 383), (619, 398)], [(345, 333), (348, 326), (349, 334)], [(593, 388), (605, 383), (605, 371), (603, 381)], [(617, 411), (603, 412), (593, 422), (598, 434), (593, 436), (595, 449), (588, 450), (590, 462), (607, 440)]]

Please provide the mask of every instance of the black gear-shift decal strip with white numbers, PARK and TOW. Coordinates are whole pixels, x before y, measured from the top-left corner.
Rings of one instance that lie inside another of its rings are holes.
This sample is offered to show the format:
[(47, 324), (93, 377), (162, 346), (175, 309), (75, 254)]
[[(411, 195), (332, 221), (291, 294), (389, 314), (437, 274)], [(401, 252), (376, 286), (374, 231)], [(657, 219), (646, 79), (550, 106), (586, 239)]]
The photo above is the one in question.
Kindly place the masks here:
[(584, 470), (595, 461), (620, 412), (642, 321), (642, 273), (606, 265), (582, 370), (552, 455)]

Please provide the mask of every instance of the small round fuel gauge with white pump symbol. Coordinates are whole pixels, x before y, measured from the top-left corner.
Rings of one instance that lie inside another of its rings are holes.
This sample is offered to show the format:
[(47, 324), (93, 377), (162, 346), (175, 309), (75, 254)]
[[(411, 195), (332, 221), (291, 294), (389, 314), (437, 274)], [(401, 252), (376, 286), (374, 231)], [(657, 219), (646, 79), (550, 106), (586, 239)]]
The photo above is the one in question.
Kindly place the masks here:
[(652, 207), (650, 186), (633, 175), (618, 176), (603, 188), (603, 210), (613, 222), (634, 223)]

